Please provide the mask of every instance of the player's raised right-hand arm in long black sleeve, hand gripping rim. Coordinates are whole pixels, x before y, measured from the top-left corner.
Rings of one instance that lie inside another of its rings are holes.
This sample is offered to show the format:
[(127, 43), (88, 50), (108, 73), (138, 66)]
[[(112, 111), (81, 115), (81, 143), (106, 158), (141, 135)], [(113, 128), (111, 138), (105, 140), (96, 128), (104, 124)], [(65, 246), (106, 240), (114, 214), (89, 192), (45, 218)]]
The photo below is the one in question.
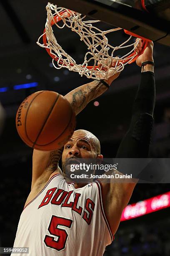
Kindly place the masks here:
[[(141, 43), (138, 46), (139, 49)], [(148, 47), (138, 57), (136, 63), (141, 67), (141, 64), (145, 61), (150, 61), (150, 64), (142, 66), (141, 79), (133, 105), (130, 128), (120, 143), (116, 156), (117, 159), (148, 157), (153, 110), (155, 106), (154, 66), (151, 64), (153, 62), (153, 42), (148, 43)], [(121, 172), (121, 169), (119, 171)], [(121, 174), (120, 172), (116, 171), (115, 173)], [(109, 181), (105, 183), (101, 181), (103, 197), (105, 199), (103, 200), (103, 205), (113, 234), (115, 234), (118, 228), (122, 211), (128, 204), (138, 179), (134, 181), (134, 183), (128, 182), (128, 179), (120, 179), (119, 183), (111, 183)]]

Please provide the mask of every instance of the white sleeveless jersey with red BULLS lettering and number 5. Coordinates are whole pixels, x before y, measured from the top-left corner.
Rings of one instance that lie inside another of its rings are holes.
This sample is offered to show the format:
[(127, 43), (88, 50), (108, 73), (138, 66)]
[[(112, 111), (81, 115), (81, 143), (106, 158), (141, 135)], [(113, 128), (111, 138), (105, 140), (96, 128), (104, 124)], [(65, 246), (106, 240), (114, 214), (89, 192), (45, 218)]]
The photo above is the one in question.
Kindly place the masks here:
[(15, 256), (101, 256), (113, 236), (102, 206), (99, 182), (75, 188), (55, 174), (23, 210), (14, 247), (29, 247)]

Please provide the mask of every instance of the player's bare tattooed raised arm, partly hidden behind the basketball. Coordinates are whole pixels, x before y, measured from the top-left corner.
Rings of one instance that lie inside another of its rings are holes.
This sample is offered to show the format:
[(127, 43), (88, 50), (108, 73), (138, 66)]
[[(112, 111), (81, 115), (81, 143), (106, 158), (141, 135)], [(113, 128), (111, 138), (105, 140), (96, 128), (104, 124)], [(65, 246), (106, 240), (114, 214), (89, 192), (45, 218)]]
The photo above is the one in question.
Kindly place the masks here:
[[(115, 74), (105, 82), (110, 86), (119, 74), (120, 73)], [(99, 97), (106, 90), (107, 87), (102, 82), (94, 80), (93, 82), (84, 84), (75, 90), (72, 90), (65, 95), (65, 97), (70, 102), (77, 115), (91, 100)], [(60, 167), (58, 166), (58, 161), (61, 155), (62, 148), (51, 152), (34, 150), (32, 158), (32, 187), (46, 182), (53, 172), (61, 172)]]

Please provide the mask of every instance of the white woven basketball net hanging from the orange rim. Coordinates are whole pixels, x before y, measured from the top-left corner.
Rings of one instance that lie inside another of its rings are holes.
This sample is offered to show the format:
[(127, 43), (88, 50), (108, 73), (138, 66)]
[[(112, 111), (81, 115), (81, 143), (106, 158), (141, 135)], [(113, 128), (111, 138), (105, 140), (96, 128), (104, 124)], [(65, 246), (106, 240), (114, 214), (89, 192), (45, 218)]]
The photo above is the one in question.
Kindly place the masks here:
[[(53, 58), (52, 63), (56, 69), (65, 67), (70, 71), (78, 72), (81, 76), (85, 75), (88, 78), (108, 79), (113, 74), (121, 72), (124, 69), (124, 66), (138, 55), (136, 53), (134, 56), (129, 56), (135, 49), (135, 43), (126, 45), (132, 36), (130, 36), (127, 41), (116, 47), (113, 47), (108, 43), (108, 39), (106, 37), (107, 33), (117, 31), (122, 28), (101, 31), (99, 28), (93, 26), (94, 23), (100, 22), (100, 20), (83, 21), (86, 17), (85, 15), (57, 7), (57, 5), (53, 5), (51, 3), (47, 4), (46, 9), (47, 22), (45, 24), (45, 33), (38, 38), (37, 44), (50, 51)], [(59, 18), (60, 21), (58, 22), (56, 18)], [(76, 64), (76, 61), (62, 49), (53, 34), (51, 26), (52, 23), (55, 24), (57, 28), (64, 28), (65, 26), (71, 28), (72, 31), (76, 32), (80, 36), (80, 41), (84, 41), (87, 45), (87, 49), (89, 51), (85, 54), (84, 62), (82, 64)], [(44, 36), (47, 38), (47, 43), (41, 44), (40, 39)], [(117, 49), (130, 46), (133, 47), (128, 54), (120, 58), (113, 56)], [(110, 49), (111, 54), (109, 55), (108, 51)], [(117, 61), (115, 67), (110, 68), (112, 66), (113, 58), (116, 58)], [(55, 65), (55, 60), (57, 60), (57, 66)], [(94, 61), (94, 65), (92, 67), (88, 66), (89, 61)], [(101, 64), (100, 68), (96, 67), (98, 62)], [(107, 68), (107, 71), (104, 71), (104, 68)]]

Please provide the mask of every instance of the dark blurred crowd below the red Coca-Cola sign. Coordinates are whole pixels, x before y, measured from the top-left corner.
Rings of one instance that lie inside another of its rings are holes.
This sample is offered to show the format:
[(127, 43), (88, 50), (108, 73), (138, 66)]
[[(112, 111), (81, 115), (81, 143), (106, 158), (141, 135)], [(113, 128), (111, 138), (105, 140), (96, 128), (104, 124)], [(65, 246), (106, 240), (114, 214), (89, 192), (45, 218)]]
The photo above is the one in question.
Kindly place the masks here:
[[(161, 212), (160, 212), (161, 218)], [(118, 229), (104, 256), (170, 256), (170, 218)]]

